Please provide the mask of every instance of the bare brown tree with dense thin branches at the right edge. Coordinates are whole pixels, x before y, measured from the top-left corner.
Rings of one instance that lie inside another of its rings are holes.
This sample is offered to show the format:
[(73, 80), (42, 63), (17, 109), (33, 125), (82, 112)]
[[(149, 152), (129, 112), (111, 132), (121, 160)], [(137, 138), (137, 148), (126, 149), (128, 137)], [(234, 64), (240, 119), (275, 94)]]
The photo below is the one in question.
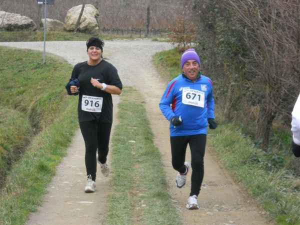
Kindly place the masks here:
[[(261, 147), (266, 149), (273, 119), (278, 112), (284, 112), (280, 106), (290, 96), (288, 87), (294, 77), (291, 68), (298, 71), (299, 43), (296, 39), (299, 38), (299, 28), (292, 28), (289, 23), (297, 24), (299, 4), (292, 0), (227, 2), (232, 13), (237, 16), (237, 22), (242, 24), (239, 27), (243, 29), (245, 41), (251, 49), (251, 58), (248, 60), (251, 63), (247, 67), (255, 74), (253, 85), (259, 93), (256, 138), (261, 139)], [(292, 7), (296, 10), (290, 11)], [(286, 27), (291, 28), (289, 33), (293, 34), (286, 36)], [(291, 49), (294, 51), (292, 60)]]

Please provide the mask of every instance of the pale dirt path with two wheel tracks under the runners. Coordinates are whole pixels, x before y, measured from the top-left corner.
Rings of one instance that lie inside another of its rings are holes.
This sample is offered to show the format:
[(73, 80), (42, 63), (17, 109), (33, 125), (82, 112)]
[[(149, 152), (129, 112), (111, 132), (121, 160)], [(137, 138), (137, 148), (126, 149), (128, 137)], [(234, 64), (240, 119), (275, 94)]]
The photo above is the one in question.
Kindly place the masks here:
[[(84, 41), (50, 41), (46, 51), (64, 57), (71, 64), (87, 59)], [(42, 50), (42, 42), (0, 42), (21, 48)], [(190, 173), (185, 187), (174, 185), (176, 171), (171, 167), (168, 122), (162, 116), (158, 102), (167, 80), (162, 80), (151, 63), (151, 56), (170, 44), (150, 40), (105, 41), (104, 57), (115, 65), (124, 85), (138, 89), (146, 101), (147, 116), (155, 135), (154, 142), (164, 162), (164, 171), (183, 224), (271, 224), (231, 177), (213, 159), (206, 148), (203, 186), (199, 194), (199, 210), (185, 209), (190, 189)], [(41, 59), (42, 60), (42, 59)], [(114, 113), (118, 96), (114, 96)], [(114, 118), (116, 118), (114, 116)], [(116, 123), (114, 119), (114, 124)], [(105, 201), (109, 192), (109, 177), (98, 172), (97, 191), (83, 192), (85, 184), (84, 143), (77, 130), (71, 145), (57, 167), (56, 176), (48, 187), (44, 203), (31, 213), (27, 224), (101, 224), (105, 215)], [(190, 155), (187, 155), (187, 159)], [(110, 158), (108, 157), (108, 160)]]

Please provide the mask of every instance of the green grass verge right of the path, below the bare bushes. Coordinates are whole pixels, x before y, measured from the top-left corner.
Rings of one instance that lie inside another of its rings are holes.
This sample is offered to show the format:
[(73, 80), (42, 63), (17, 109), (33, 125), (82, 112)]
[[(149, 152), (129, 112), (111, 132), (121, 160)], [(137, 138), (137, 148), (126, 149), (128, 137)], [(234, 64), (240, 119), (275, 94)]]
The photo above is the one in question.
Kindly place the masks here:
[(300, 224), (300, 192), (292, 185), (297, 177), (272, 166), (266, 153), (233, 124), (220, 124), (207, 140), (218, 160), (277, 224)]

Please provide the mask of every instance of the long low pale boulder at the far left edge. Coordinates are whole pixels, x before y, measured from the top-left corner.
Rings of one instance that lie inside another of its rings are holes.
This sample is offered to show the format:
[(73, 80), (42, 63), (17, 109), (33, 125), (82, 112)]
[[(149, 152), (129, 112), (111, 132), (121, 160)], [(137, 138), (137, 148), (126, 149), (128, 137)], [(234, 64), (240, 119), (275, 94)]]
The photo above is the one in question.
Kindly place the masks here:
[(6, 11), (0, 11), (0, 30), (8, 31), (34, 31), (36, 24), (27, 16)]

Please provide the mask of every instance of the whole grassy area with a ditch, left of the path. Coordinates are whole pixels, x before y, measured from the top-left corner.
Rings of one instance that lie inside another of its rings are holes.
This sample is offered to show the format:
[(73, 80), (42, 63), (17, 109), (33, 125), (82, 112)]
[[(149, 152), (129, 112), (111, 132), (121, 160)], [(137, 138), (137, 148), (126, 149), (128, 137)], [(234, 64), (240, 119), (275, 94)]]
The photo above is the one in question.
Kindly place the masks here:
[(72, 66), (41, 57), (0, 47), (0, 224), (24, 224), (36, 210), (78, 127), (76, 98), (64, 90)]

